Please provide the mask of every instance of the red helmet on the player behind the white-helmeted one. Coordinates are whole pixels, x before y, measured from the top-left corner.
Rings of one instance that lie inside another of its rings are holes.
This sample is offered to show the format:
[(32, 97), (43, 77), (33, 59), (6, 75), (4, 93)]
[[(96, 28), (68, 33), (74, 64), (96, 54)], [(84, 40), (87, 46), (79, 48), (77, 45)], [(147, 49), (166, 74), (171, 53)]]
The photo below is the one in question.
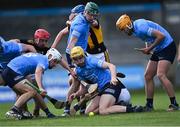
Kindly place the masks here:
[(34, 39), (49, 39), (50, 33), (45, 29), (38, 29), (34, 33)]

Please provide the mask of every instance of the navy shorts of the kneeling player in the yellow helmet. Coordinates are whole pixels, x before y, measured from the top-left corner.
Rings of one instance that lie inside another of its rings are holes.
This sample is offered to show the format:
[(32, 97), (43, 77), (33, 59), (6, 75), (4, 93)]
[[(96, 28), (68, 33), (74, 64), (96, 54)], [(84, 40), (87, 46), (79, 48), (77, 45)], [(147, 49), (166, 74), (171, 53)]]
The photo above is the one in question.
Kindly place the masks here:
[[(119, 80), (118, 80), (119, 81)], [(108, 86), (108, 87), (107, 87)], [(111, 84), (110, 82), (107, 83), (105, 85), (105, 87), (107, 87), (104, 91), (100, 92), (99, 93), (99, 96), (103, 95), (103, 94), (111, 94), (112, 96), (115, 97), (116, 99), (116, 103), (118, 102), (119, 100), (119, 96), (121, 94), (121, 89), (124, 89), (126, 88), (121, 81), (118, 82), (117, 85), (113, 85)]]

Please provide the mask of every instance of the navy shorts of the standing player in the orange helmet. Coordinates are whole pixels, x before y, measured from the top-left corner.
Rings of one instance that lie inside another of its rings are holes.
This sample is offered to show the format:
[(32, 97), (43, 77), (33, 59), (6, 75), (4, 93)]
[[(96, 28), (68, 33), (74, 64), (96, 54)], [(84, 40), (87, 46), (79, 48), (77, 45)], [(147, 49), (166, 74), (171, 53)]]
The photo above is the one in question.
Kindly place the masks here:
[(168, 60), (173, 63), (176, 56), (176, 45), (172, 42), (169, 46), (159, 52), (154, 52), (150, 58), (152, 61)]

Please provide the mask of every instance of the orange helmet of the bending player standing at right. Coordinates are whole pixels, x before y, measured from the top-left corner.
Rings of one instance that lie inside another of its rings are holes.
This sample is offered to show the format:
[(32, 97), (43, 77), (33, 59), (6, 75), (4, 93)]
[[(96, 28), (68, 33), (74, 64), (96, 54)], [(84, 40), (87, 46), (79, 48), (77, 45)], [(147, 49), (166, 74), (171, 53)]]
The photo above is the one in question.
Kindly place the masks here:
[(132, 22), (130, 17), (126, 14), (120, 16), (116, 22), (116, 27), (119, 30), (124, 30), (125, 28), (132, 29)]

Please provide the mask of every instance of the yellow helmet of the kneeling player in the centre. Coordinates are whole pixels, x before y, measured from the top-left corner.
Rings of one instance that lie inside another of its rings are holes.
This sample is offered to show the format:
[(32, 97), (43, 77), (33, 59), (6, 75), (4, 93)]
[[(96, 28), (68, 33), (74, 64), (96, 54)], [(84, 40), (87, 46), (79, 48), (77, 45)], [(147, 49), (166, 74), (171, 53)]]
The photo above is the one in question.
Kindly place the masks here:
[(72, 48), (70, 56), (72, 59), (80, 56), (85, 56), (84, 50), (80, 46), (75, 46), (74, 48)]

